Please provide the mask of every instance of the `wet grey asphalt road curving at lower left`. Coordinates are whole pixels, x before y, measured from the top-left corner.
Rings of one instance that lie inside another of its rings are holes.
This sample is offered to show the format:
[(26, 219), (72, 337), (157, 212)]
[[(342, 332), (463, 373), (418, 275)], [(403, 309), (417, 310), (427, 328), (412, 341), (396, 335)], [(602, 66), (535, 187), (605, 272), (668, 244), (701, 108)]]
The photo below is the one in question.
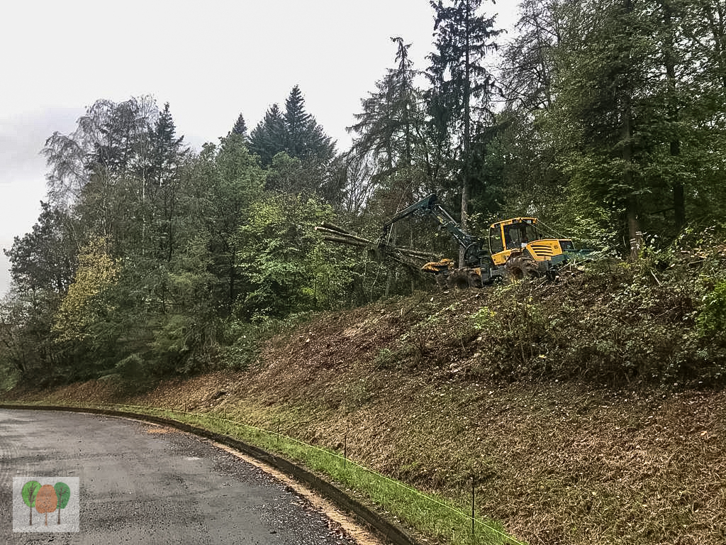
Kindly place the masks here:
[[(13, 477), (34, 476), (78, 477), (78, 533), (12, 531)], [(197, 437), (108, 416), (0, 410), (0, 544), (6, 543), (354, 541), (285, 484)]]

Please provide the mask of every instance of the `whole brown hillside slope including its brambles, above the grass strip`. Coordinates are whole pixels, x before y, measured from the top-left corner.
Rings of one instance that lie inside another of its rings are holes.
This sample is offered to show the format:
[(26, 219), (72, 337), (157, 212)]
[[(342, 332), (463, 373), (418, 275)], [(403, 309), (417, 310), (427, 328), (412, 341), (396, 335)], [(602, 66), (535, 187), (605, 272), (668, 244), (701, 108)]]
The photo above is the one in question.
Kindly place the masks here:
[[(645, 296), (608, 275), (322, 315), (269, 340), (245, 371), (123, 400), (346, 441), (351, 459), (450, 498), (474, 476), (480, 512), (531, 544), (721, 544), (720, 360), (686, 358), (696, 341), (673, 324), (695, 319), (687, 294), (661, 280)], [(121, 399), (98, 382), (47, 398)]]

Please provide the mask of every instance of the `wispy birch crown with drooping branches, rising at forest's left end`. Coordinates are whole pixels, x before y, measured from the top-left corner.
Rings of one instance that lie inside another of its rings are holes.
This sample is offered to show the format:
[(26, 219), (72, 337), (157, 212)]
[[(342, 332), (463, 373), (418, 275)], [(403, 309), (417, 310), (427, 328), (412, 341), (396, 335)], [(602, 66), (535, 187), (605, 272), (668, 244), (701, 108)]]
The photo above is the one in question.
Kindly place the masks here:
[(104, 236), (121, 253), (144, 239), (154, 166), (150, 139), (158, 116), (151, 97), (97, 100), (76, 131), (46, 140), (50, 202), (82, 218), (81, 243), (86, 234)]

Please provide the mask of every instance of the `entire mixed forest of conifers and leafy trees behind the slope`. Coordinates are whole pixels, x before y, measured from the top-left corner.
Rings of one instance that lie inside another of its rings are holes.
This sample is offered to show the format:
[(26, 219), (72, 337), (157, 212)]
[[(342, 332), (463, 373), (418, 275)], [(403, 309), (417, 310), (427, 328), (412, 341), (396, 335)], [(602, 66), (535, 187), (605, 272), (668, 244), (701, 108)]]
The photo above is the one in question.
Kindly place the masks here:
[[(723, 246), (725, 0), (523, 0), (507, 35), (482, 0), (422, 9), (427, 65), (391, 38), (348, 150), (298, 86), (201, 150), (152, 96), (97, 100), (72, 133), (49, 135), (46, 201), (5, 250), (5, 380), (245, 368), (291, 323), (431, 287), (314, 227), (375, 240), (432, 192), (474, 234), (527, 215), (633, 263), (694, 236)], [(393, 239), (458, 252), (423, 221)], [(709, 274), (720, 331), (726, 276)]]

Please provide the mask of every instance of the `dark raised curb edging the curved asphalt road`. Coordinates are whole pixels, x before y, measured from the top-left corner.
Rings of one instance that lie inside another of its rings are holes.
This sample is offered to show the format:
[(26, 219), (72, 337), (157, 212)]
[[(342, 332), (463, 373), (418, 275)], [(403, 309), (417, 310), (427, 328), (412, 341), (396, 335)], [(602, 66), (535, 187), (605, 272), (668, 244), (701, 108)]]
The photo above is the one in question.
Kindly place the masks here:
[(364, 504), (360, 503), (354, 498), (351, 498), (346, 493), (322, 480), (314, 473), (309, 472), (307, 469), (298, 467), (292, 462), (276, 456), (268, 451), (264, 451), (253, 445), (248, 445), (238, 439), (229, 437), (229, 435), (221, 435), (219, 433), (210, 432), (207, 429), (192, 426), (191, 424), (184, 424), (178, 420), (167, 419), (163, 416), (151, 416), (148, 414), (131, 413), (127, 411), (114, 411), (112, 409), (102, 408), (81, 408), (81, 407), (66, 407), (57, 405), (9, 405), (6, 403), (0, 403), (0, 408), (3, 409), (20, 409), (23, 411), (65, 411), (70, 413), (91, 413), (91, 414), (102, 414), (105, 416), (121, 416), (126, 418), (133, 418), (136, 420), (143, 420), (152, 422), (154, 424), (164, 424), (166, 426), (174, 427), (183, 432), (191, 433), (199, 437), (205, 437), (211, 439), (216, 443), (227, 445), (228, 447), (234, 448), (237, 451), (247, 454), (259, 461), (268, 464), (269, 466), (279, 469), (281, 472), (290, 475), (295, 480), (307, 485), (312, 490), (325, 496), (328, 500), (332, 501), (335, 506), (343, 509), (343, 511), (352, 514), (357, 522), (361, 523), (365, 527), (372, 530), (379, 538), (383, 538), (390, 544), (393, 545), (420, 545), (401, 526), (384, 519), (378, 513), (373, 511)]

